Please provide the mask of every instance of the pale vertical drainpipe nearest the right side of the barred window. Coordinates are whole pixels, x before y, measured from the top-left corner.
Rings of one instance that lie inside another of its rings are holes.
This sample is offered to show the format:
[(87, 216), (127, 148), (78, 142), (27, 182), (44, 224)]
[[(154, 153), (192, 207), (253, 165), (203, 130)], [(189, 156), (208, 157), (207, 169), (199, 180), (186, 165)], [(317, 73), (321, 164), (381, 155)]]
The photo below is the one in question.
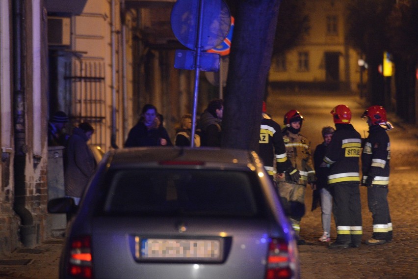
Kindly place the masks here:
[(115, 18), (116, 18), (115, 0), (111, 1), (111, 49), (112, 49), (112, 136), (110, 145), (118, 148), (116, 144), (116, 47), (115, 47)]

